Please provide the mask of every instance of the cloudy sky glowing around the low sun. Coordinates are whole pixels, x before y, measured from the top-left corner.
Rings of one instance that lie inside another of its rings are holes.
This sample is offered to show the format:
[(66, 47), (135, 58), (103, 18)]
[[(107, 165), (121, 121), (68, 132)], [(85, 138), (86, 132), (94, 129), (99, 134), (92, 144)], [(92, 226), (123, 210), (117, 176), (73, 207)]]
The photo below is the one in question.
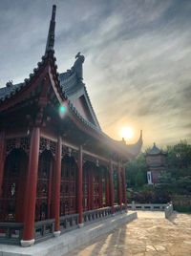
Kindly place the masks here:
[(85, 55), (84, 83), (102, 130), (132, 127), (144, 147), (191, 142), (190, 0), (0, 0), (0, 87), (44, 54), (56, 4), (58, 72)]

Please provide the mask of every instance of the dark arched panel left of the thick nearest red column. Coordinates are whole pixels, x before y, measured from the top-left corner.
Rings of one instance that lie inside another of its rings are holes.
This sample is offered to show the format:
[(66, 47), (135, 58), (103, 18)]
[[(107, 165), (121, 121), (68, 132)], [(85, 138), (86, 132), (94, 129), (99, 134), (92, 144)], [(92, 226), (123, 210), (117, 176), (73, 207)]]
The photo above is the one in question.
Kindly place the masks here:
[(23, 222), (26, 169), (28, 158), (21, 149), (13, 149), (5, 162), (0, 221)]

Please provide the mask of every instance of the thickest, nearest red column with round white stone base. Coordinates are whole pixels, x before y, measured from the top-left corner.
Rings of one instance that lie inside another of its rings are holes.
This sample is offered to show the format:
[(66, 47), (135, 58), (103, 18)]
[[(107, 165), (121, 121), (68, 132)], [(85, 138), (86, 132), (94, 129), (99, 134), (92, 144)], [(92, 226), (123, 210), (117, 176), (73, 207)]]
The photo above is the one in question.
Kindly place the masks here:
[(30, 246), (34, 243), (34, 214), (36, 200), (36, 184), (38, 176), (38, 158), (39, 158), (40, 128), (33, 127), (31, 135), (31, 148), (29, 169), (27, 176), (27, 191), (25, 200), (25, 221), (22, 246)]

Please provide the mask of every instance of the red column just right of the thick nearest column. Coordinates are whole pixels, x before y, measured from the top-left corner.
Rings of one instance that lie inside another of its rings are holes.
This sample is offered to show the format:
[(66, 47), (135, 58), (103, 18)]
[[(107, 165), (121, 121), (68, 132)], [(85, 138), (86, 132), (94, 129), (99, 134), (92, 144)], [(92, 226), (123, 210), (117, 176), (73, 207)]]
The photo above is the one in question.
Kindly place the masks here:
[(54, 200), (53, 214), (55, 219), (54, 232), (55, 237), (60, 235), (59, 211), (60, 211), (60, 183), (61, 183), (61, 160), (62, 160), (62, 138), (57, 139), (57, 148), (55, 154), (55, 169), (54, 169)]

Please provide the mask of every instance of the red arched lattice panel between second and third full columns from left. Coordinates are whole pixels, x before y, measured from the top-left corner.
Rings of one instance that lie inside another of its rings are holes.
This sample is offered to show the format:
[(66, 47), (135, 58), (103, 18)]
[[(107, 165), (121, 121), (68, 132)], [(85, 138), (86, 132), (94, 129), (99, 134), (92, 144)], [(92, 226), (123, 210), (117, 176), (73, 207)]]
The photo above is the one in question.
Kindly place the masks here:
[(73, 157), (65, 155), (61, 165), (60, 215), (76, 213), (77, 165)]

